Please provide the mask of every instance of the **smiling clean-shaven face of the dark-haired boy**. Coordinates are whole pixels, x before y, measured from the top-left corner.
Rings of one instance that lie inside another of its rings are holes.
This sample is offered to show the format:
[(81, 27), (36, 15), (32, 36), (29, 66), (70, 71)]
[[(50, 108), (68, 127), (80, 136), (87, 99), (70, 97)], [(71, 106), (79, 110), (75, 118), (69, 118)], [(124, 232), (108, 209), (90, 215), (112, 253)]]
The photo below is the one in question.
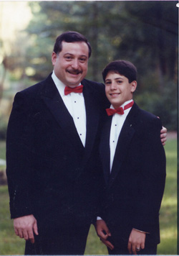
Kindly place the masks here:
[(125, 101), (132, 99), (132, 93), (137, 87), (137, 82), (129, 83), (128, 78), (110, 71), (105, 78), (105, 92), (107, 99), (115, 109), (119, 108)]

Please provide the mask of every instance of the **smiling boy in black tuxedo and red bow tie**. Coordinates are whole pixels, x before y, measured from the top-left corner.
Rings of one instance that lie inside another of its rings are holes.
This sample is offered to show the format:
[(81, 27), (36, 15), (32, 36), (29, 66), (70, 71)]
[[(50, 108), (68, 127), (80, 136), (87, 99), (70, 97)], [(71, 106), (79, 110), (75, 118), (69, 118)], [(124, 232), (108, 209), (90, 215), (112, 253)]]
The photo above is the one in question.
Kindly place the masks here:
[(162, 125), (132, 100), (137, 87), (132, 63), (114, 61), (102, 75), (111, 107), (100, 142), (106, 194), (97, 234), (111, 255), (155, 255), (165, 187)]

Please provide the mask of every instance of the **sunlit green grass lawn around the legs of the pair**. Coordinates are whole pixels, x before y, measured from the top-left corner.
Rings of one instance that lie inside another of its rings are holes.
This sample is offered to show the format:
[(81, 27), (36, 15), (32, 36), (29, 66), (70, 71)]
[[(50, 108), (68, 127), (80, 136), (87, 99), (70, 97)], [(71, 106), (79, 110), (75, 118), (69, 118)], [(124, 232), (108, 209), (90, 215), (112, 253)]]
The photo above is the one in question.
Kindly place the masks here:
[[(168, 140), (165, 145), (167, 156), (167, 179), (165, 194), (160, 209), (160, 238), (158, 255), (177, 255), (177, 142)], [(0, 142), (0, 158), (5, 159), (5, 143)], [(9, 217), (7, 186), (0, 186), (0, 255), (23, 255), (24, 241), (14, 234)], [(105, 245), (91, 227), (85, 255), (107, 255)]]

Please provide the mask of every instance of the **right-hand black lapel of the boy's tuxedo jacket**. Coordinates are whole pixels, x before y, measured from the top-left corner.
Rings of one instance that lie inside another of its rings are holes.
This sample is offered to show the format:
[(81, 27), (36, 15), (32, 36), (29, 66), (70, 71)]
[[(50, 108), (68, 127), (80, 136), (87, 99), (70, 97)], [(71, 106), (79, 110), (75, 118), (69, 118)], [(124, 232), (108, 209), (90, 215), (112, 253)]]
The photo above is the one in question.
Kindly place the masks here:
[(123, 124), (122, 130), (120, 132), (120, 137), (117, 142), (117, 147), (115, 150), (115, 157), (112, 165), (112, 172), (110, 175), (110, 183), (109, 186), (112, 186), (115, 178), (120, 172), (120, 168), (122, 166), (123, 161), (125, 160), (125, 155), (127, 154), (127, 150), (130, 147), (130, 142), (132, 140), (133, 135), (135, 134), (135, 122), (137, 120), (137, 105), (134, 104), (130, 113), (127, 115), (125, 119), (125, 123)]

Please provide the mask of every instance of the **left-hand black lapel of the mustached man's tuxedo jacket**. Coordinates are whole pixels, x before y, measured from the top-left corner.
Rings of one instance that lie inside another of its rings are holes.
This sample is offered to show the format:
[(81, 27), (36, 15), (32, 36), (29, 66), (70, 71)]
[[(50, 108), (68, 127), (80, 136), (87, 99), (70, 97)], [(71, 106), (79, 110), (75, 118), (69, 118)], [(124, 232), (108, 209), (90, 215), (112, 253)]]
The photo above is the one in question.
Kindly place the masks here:
[(52, 78), (47, 78), (48, 83), (45, 84), (44, 94), (42, 99), (47, 105), (47, 108), (52, 112), (52, 115), (57, 120), (57, 123), (62, 127), (64, 131), (64, 136), (67, 137), (69, 143), (72, 143), (74, 147), (84, 150), (82, 142), (77, 134), (77, 129), (74, 125), (72, 116), (69, 114), (64, 102), (62, 101), (59, 92), (57, 91)]

